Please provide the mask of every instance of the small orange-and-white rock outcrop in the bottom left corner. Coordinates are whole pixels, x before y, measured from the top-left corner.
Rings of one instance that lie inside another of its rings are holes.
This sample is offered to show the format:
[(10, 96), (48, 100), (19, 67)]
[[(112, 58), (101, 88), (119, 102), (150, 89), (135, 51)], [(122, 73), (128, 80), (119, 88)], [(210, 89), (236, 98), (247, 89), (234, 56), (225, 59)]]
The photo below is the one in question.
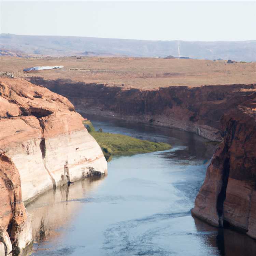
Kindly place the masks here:
[(32, 246), (32, 230), (22, 202), (19, 172), (12, 159), (2, 150), (0, 195), (0, 255), (10, 255), (11, 252), (22, 255)]

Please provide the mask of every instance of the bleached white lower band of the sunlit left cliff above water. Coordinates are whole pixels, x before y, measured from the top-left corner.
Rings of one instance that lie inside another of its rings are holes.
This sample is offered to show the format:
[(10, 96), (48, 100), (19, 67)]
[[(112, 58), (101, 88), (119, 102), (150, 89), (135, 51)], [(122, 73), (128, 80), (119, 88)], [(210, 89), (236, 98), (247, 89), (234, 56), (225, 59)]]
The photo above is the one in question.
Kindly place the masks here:
[(61, 185), (63, 177), (66, 182), (65, 164), (71, 182), (86, 177), (91, 168), (107, 174), (107, 163), (101, 148), (87, 130), (46, 138), (44, 158), (40, 142), (41, 138), (31, 139), (5, 148), (19, 170), (24, 202), (52, 189), (53, 183)]

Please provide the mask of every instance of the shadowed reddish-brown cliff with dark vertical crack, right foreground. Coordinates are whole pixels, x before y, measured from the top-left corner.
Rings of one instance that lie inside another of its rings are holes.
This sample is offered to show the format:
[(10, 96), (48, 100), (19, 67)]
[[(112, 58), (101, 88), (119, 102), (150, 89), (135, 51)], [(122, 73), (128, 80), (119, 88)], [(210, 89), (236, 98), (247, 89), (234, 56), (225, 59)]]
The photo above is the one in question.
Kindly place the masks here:
[(196, 197), (193, 215), (256, 238), (256, 93), (221, 119), (217, 148)]

